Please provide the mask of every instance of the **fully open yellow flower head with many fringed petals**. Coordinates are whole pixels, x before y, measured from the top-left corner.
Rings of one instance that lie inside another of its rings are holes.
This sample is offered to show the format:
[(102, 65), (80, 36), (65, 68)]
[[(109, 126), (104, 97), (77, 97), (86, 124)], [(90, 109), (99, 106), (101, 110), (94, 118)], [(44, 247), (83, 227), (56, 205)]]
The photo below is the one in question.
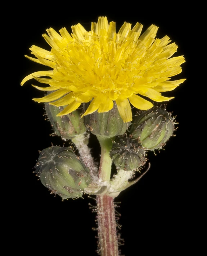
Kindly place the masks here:
[(164, 97), (161, 92), (172, 91), (185, 80), (168, 81), (182, 71), (180, 65), (185, 62), (183, 56), (170, 58), (177, 45), (169, 44), (168, 36), (155, 39), (155, 25), (140, 36), (142, 27), (136, 23), (131, 29), (131, 24), (125, 22), (116, 33), (115, 22), (108, 24), (107, 17), (99, 17), (89, 32), (80, 23), (72, 26), (71, 35), (66, 28), (60, 29), (60, 34), (50, 28), (49, 36), (43, 37), (51, 51), (32, 45), (30, 50), (36, 58), (26, 57), (53, 70), (34, 72), (21, 85), (32, 78), (49, 84), (44, 88), (33, 85), (41, 91), (54, 91), (33, 100), (57, 107), (67, 105), (58, 115), (69, 114), (91, 100), (84, 115), (96, 110), (107, 112), (116, 101), (121, 118), (129, 122), (130, 103), (141, 110), (153, 106), (138, 94), (157, 102), (168, 101), (174, 97)]

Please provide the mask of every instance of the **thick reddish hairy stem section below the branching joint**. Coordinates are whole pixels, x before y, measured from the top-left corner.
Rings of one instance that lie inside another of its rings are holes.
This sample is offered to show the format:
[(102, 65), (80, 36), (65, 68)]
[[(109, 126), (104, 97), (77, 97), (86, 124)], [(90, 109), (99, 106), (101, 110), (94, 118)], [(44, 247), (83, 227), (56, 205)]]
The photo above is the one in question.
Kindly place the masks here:
[(118, 256), (114, 198), (97, 195), (98, 236), (101, 256)]

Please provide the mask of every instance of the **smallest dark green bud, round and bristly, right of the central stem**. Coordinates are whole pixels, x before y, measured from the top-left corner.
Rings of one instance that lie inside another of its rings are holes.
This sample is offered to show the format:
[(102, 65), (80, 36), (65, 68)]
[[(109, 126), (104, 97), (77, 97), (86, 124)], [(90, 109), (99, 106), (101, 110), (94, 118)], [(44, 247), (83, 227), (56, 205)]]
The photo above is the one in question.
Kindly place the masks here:
[(146, 161), (144, 149), (138, 140), (126, 137), (117, 137), (110, 156), (117, 169), (126, 171), (135, 170)]

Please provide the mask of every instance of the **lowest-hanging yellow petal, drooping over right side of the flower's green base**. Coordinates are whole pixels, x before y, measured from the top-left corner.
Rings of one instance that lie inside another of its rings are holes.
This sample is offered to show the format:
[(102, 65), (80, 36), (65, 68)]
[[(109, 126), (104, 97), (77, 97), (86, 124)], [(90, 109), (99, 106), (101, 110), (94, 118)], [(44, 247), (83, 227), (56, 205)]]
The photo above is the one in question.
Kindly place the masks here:
[(117, 99), (116, 100), (118, 112), (124, 123), (132, 120), (131, 106), (128, 99)]

